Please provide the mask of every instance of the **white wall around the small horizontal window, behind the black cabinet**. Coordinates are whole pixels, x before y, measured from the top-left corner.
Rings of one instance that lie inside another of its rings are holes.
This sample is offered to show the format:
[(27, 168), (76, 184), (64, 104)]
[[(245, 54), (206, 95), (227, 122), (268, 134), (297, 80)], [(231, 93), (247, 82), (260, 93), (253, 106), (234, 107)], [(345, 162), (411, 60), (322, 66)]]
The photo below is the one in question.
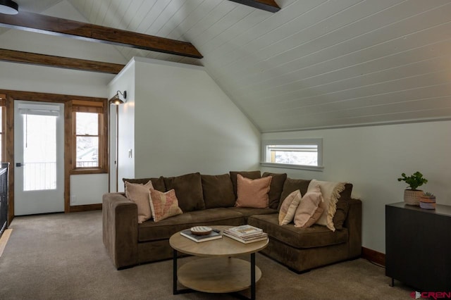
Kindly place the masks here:
[(265, 133), (262, 139), (323, 138), (323, 172), (262, 168), (289, 177), (351, 182), (362, 199), (363, 246), (385, 253), (385, 204), (403, 201), (404, 182), (419, 170), (421, 187), (451, 205), (451, 121)]

